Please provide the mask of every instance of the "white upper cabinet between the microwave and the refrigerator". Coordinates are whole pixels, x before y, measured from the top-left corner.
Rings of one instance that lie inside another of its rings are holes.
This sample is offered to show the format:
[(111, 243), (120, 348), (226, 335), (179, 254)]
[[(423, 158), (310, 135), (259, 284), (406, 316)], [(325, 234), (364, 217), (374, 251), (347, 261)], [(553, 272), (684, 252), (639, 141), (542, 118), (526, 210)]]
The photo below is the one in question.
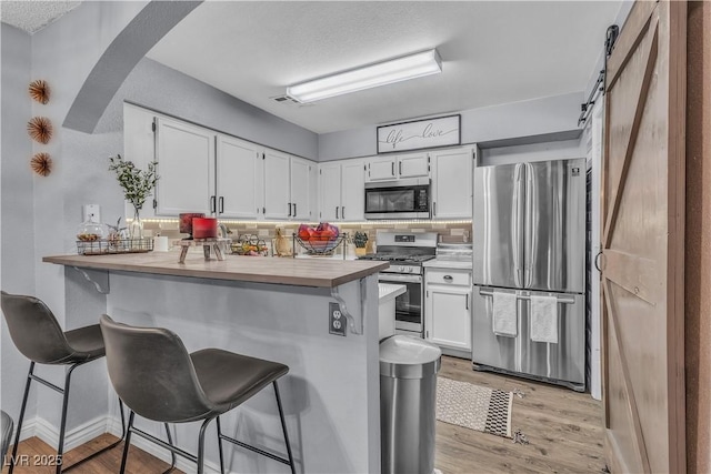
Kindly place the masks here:
[(474, 152), (470, 147), (432, 151), (432, 218), (471, 219)]

